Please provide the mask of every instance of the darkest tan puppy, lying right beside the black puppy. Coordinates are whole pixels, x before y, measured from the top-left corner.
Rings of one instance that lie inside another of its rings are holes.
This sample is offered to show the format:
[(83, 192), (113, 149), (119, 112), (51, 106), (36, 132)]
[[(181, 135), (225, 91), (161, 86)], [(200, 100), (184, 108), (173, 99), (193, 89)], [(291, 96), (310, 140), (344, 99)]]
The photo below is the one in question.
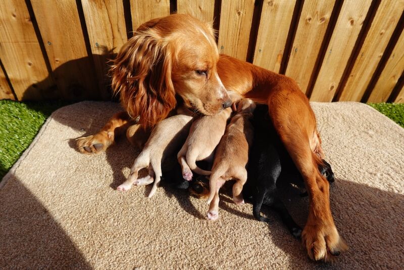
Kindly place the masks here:
[(236, 204), (244, 202), (241, 191), (247, 181), (248, 148), (254, 136), (249, 119), (255, 107), (255, 103), (250, 99), (239, 101), (236, 114), (220, 140), (209, 180), (208, 219), (215, 220), (219, 217), (219, 189), (230, 179), (236, 181), (233, 185), (234, 202)]

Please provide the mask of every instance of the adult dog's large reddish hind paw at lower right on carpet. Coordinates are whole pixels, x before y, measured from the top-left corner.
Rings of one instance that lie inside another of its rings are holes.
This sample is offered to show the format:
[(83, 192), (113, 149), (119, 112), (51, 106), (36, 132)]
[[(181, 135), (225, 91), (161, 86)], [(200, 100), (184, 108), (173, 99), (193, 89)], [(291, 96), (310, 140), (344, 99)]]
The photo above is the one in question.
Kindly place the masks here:
[(301, 234), (303, 244), (312, 260), (332, 261), (342, 251), (348, 249), (339, 237), (334, 224), (329, 226), (306, 225)]

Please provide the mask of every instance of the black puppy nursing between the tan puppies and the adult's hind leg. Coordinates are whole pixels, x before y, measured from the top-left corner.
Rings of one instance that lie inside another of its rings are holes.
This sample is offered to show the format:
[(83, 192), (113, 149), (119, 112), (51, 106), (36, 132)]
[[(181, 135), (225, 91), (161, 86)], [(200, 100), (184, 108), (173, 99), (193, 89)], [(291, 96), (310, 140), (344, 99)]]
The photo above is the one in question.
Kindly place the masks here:
[[(254, 125), (254, 141), (248, 159), (248, 179), (243, 187), (244, 199), (251, 200), (255, 218), (270, 221), (261, 215), (262, 205), (267, 205), (279, 213), (288, 230), (295, 238), (299, 238), (301, 228), (279, 199), (276, 184), (280, 179), (289, 181), (289, 177), (302, 183), (301, 175), (272, 126), (268, 106), (257, 106), (251, 121)], [(334, 174), (330, 164), (324, 160), (323, 163), (324, 166), (319, 168), (320, 172), (326, 175), (329, 182), (333, 182)]]

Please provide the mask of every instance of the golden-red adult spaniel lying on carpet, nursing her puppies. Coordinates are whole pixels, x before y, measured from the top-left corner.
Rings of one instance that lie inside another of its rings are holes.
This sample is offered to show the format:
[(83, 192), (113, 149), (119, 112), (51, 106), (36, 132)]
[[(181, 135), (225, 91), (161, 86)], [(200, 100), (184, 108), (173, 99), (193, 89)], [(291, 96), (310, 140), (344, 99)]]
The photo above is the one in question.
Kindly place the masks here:
[(329, 183), (318, 170), (323, 151), (316, 118), (297, 84), (229, 56), (219, 56), (211, 25), (189, 15), (170, 15), (141, 25), (111, 69), (112, 87), (126, 113), (93, 136), (78, 140), (83, 153), (105, 150), (114, 131), (136, 117), (144, 127), (166, 118), (179, 97), (191, 110), (212, 115), (229, 107), (228, 91), (267, 104), (280, 139), (304, 178), (309, 215), (302, 232), (308, 255), (329, 261), (347, 246), (331, 215)]

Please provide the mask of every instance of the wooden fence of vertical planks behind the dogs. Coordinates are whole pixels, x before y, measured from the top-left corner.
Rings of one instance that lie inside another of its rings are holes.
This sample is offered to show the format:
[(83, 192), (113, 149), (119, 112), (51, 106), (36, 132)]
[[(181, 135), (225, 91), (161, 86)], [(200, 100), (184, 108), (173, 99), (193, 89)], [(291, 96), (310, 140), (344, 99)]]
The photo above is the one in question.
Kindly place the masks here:
[(404, 102), (404, 0), (0, 0), (0, 99), (111, 98), (108, 58), (141, 23), (213, 21), (220, 53), (311, 101)]

